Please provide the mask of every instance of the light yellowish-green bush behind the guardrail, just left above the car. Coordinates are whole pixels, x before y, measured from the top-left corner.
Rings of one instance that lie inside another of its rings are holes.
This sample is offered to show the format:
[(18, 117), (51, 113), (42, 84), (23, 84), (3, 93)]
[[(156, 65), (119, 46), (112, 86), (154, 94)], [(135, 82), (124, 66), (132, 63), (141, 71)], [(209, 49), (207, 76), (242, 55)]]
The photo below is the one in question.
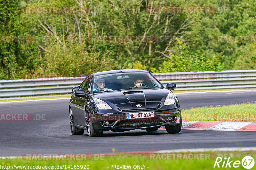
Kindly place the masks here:
[(44, 56), (44, 70), (42, 74), (81, 74), (111, 70), (116, 64), (105, 53), (99, 59), (99, 53), (88, 53), (85, 45), (76, 44), (61, 48), (52, 46)]

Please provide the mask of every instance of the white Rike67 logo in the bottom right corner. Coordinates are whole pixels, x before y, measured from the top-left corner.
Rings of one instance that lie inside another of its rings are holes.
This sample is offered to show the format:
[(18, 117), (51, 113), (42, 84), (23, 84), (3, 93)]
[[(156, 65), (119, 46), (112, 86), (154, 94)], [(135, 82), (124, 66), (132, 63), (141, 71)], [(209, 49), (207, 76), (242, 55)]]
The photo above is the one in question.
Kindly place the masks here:
[(254, 166), (254, 159), (251, 156), (245, 156), (242, 161), (240, 160), (230, 160), (230, 157), (225, 157), (224, 159), (222, 159), (221, 157), (217, 157), (214, 163), (214, 168), (215, 167), (222, 167), (222, 168), (237, 168), (239, 166), (243, 166), (246, 169), (251, 169)]

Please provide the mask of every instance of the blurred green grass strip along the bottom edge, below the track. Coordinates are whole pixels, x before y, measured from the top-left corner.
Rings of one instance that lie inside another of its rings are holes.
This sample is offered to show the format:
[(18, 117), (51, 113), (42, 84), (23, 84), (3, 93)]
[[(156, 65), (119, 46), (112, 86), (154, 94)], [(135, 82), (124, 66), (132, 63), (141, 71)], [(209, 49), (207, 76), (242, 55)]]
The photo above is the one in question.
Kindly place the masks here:
[[(204, 155), (206, 152), (201, 152)], [(194, 153), (193, 153), (194, 154)], [(196, 153), (195, 153), (196, 154)], [(217, 156), (220, 155), (226, 155), (221, 156), (223, 159), (224, 157), (229, 157), (230, 160), (239, 160), (242, 161), (242, 159), (245, 156), (251, 156), (255, 159), (256, 157), (256, 151), (250, 151), (250, 152), (207, 152), (207, 154), (210, 154), (211, 156), (208, 157), (207, 160), (188, 160), (185, 159), (185, 157), (181, 157), (179, 160), (150, 160), (150, 155), (146, 154), (118, 154), (115, 156), (108, 155), (105, 157), (104, 160), (24, 160), (22, 158), (16, 158), (16, 159), (0, 159), (0, 165), (7, 165), (11, 166), (63, 166), (66, 165), (66, 167), (71, 165), (74, 168), (74, 165), (89, 165), (89, 169), (91, 170), (107, 170), (111, 169), (111, 165), (145, 165), (146, 170), (169, 170), (169, 169), (204, 169), (204, 170), (210, 170), (214, 169), (214, 163)], [(156, 157), (155, 157), (156, 158)], [(159, 158), (159, 157), (158, 157)], [(163, 157), (166, 159), (166, 157)], [(233, 161), (233, 162), (234, 162)], [(220, 166), (222, 166), (223, 161), (220, 163)], [(231, 164), (232, 166), (232, 164)], [(255, 167), (256, 165), (254, 165)], [(143, 167), (143, 166), (142, 166)], [(24, 169), (24, 168), (19, 168)], [(42, 169), (42, 168), (41, 168)], [(56, 169), (56, 168), (53, 168)], [(65, 169), (65, 168), (64, 168)], [(68, 169), (68, 168), (67, 168)], [(70, 168), (71, 169), (71, 168)], [(113, 169), (113, 167), (112, 167)], [(220, 169), (220, 168), (217, 168)], [(221, 168), (223, 169), (223, 168)], [(233, 169), (233, 168), (225, 168), (225, 169)], [(239, 165), (238, 168), (235, 169), (243, 169), (244, 167), (242, 165)], [(253, 168), (252, 168), (253, 169)]]

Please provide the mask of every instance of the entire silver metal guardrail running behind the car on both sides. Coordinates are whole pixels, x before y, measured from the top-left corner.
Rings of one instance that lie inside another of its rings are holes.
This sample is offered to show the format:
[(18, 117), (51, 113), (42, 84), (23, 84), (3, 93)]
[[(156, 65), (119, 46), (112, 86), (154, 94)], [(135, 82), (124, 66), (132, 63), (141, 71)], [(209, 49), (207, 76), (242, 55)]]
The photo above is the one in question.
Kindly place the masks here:
[[(166, 86), (176, 83), (176, 90), (256, 88), (256, 70), (228, 70), (154, 74)], [(67, 94), (84, 77), (1, 80), (0, 98)]]

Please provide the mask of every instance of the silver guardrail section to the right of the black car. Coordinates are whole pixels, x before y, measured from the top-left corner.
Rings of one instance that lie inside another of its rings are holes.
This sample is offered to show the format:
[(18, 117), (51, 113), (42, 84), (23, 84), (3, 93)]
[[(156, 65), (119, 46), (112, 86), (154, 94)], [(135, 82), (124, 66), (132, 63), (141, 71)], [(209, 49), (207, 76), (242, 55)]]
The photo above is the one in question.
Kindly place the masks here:
[(176, 83), (176, 90), (256, 88), (256, 70), (156, 73), (155, 76), (165, 86)]

